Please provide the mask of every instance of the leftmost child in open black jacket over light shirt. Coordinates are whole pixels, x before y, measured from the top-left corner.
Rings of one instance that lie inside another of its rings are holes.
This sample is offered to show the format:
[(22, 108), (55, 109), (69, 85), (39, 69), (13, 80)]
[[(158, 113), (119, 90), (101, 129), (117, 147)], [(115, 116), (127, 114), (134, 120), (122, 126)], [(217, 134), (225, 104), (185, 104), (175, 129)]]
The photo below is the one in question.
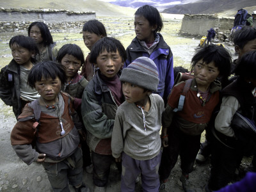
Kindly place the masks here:
[(32, 38), (23, 35), (13, 36), (9, 46), (13, 60), (1, 69), (0, 98), (6, 105), (12, 106), (13, 113), (18, 118), (26, 103), (40, 97), (27, 84), (38, 49)]

